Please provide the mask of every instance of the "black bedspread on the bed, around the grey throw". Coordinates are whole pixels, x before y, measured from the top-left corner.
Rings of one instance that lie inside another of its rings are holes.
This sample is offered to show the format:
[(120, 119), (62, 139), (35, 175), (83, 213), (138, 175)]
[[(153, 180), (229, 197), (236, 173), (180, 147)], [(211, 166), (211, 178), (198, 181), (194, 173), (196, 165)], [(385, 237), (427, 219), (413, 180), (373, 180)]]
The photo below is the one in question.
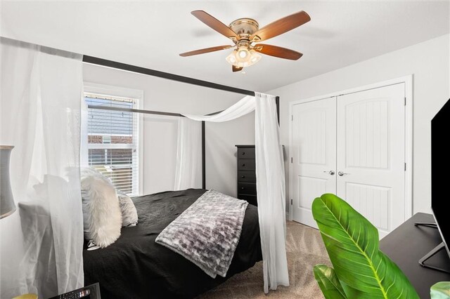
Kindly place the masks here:
[(207, 190), (188, 189), (135, 197), (139, 224), (122, 227), (114, 244), (87, 251), (84, 284), (100, 283), (102, 298), (193, 298), (262, 260), (257, 207), (248, 205), (242, 233), (226, 277), (203, 270), (155, 243), (155, 238)]

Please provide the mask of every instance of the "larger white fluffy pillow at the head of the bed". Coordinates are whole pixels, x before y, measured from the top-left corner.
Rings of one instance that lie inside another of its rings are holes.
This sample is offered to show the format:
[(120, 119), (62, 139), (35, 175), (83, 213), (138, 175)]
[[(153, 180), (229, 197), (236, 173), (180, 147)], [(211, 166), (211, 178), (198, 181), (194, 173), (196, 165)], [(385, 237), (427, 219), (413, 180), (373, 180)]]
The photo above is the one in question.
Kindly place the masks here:
[(122, 212), (115, 187), (93, 168), (81, 171), (84, 237), (101, 248), (120, 237)]

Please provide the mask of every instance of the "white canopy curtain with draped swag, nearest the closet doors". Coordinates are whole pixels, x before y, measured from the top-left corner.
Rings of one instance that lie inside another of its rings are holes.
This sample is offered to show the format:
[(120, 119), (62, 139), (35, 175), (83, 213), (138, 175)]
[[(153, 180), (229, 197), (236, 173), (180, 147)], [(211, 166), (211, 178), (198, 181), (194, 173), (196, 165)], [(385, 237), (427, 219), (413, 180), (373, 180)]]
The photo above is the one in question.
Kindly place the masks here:
[[(269, 288), (276, 290), (279, 285), (289, 286), (285, 248), (285, 176), (275, 96), (255, 93), (255, 97), (247, 96), (219, 114), (184, 115), (196, 121), (221, 122), (237, 119), (254, 110), (259, 230), (264, 293), (268, 293)], [(181, 147), (189, 148), (191, 152), (200, 151), (198, 145), (190, 144), (188, 140)]]

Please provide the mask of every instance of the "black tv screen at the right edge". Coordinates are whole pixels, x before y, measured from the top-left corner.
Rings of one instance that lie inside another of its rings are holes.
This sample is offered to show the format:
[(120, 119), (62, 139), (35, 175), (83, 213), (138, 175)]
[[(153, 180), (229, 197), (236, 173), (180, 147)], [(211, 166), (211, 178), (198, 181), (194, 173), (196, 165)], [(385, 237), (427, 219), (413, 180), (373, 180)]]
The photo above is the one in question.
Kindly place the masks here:
[(431, 209), (450, 256), (450, 100), (431, 121)]

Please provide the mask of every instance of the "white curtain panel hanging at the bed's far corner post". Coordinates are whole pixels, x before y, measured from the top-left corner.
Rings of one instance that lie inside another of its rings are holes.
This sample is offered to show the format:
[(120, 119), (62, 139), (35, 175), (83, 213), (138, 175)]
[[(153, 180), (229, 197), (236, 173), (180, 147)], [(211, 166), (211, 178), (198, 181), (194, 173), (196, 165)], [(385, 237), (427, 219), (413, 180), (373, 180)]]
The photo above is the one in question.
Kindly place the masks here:
[(202, 187), (202, 123), (178, 120), (174, 190)]

